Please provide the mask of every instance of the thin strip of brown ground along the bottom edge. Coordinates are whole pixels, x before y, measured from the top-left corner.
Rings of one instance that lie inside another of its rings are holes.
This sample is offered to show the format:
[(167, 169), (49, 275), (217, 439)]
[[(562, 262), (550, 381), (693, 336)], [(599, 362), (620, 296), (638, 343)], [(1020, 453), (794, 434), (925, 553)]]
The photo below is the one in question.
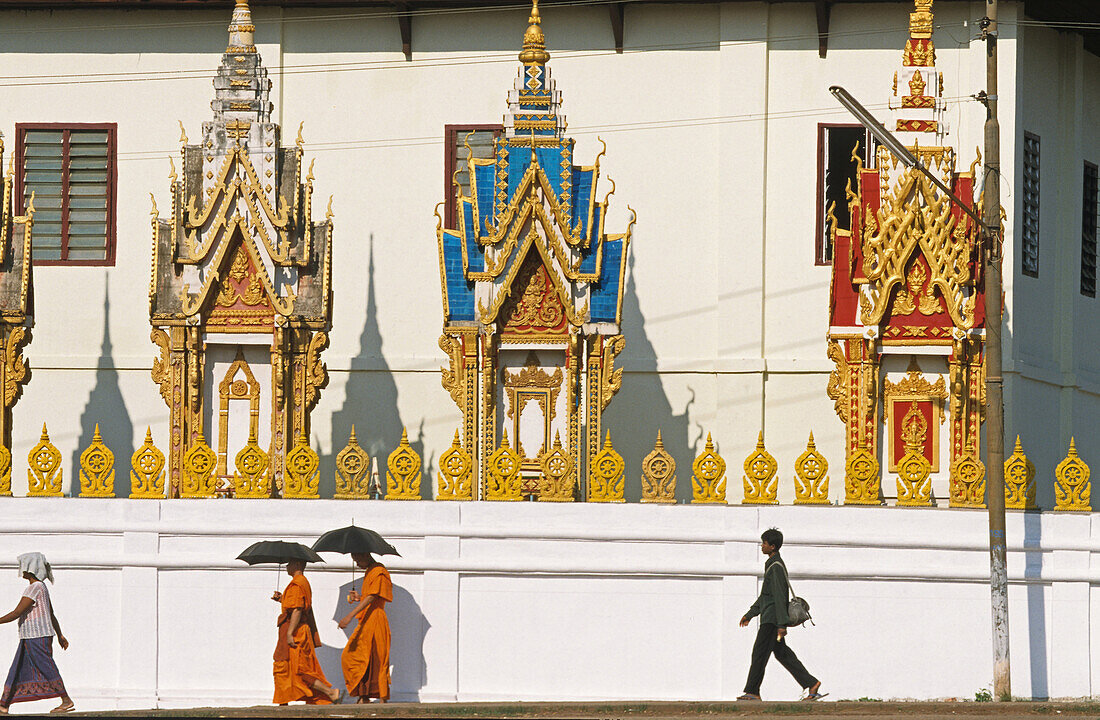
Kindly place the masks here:
[[(18, 711), (18, 710), (16, 710)], [(1024, 720), (1034, 718), (1094, 718), (1100, 720), (1100, 701), (1064, 702), (398, 702), (392, 705), (340, 705), (328, 707), (257, 706), (252, 708), (197, 708), (193, 710), (131, 710), (125, 712), (75, 713), (80, 717), (150, 717), (150, 718), (579, 718), (581, 720), (719, 720), (723, 718), (757, 718), (801, 720), (829, 718), (870, 720), (871, 718), (904, 718), (905, 720), (947, 720), (997, 718)]]

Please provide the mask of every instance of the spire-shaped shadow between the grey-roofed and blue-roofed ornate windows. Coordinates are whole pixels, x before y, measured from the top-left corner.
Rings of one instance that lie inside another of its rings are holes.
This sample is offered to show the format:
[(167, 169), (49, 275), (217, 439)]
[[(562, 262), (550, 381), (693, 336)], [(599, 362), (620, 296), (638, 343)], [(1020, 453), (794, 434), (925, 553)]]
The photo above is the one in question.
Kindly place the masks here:
[[(359, 354), (351, 359), (348, 381), (344, 385), (344, 403), (332, 413), (332, 436), (328, 454), (320, 457), (320, 487), (322, 498), (336, 491), (336, 458), (348, 444), (351, 427), (355, 425), (359, 445), (374, 461), (374, 472), (385, 489), (386, 458), (402, 440), (405, 423), (397, 409), (397, 384), (382, 352), (382, 331), (378, 328), (378, 306), (374, 292), (374, 235), (371, 235), (370, 261), (366, 268), (366, 318), (359, 336)], [(424, 458), (424, 420), (419, 433), (409, 429), (409, 445)], [(425, 462), (422, 468), (427, 468)], [(430, 477), (430, 475), (428, 476)], [(431, 497), (430, 484), (421, 481), (421, 495)]]

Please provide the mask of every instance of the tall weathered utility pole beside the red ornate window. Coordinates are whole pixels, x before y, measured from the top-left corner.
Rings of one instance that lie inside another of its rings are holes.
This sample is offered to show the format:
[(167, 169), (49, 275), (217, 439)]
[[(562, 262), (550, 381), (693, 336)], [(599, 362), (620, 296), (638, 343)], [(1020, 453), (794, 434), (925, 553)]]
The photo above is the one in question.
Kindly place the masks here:
[(986, 0), (986, 502), (993, 619), (993, 698), (1012, 699), (1009, 673), (1009, 573), (1004, 535), (1004, 378), (1001, 375), (1001, 126), (997, 121), (997, 0)]

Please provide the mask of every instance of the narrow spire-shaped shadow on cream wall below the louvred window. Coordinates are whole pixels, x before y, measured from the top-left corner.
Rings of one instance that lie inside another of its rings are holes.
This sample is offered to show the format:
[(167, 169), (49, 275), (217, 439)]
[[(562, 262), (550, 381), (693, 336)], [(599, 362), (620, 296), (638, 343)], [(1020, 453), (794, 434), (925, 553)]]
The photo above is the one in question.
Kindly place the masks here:
[(103, 444), (114, 453), (114, 492), (118, 497), (130, 495), (130, 458), (134, 454), (134, 428), (130, 412), (119, 388), (119, 372), (114, 369), (111, 347), (111, 292), (110, 278), (103, 276), (103, 342), (96, 363), (96, 386), (80, 413), (80, 439), (73, 451), (69, 476), (70, 495), (80, 495), (80, 454), (91, 445), (99, 423)]

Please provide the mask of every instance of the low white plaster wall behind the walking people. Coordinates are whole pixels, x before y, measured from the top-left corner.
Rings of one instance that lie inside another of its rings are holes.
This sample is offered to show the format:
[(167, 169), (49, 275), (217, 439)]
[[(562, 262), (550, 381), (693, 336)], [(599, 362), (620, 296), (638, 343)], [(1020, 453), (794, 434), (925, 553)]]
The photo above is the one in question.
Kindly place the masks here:
[[(76, 499), (3, 510), (0, 602), (24, 585), (15, 554), (46, 553), (73, 643), (58, 665), (84, 709), (270, 701), (268, 598), (287, 578), (233, 558), (352, 519), (402, 552), (385, 558), (397, 700), (735, 698), (755, 638), (737, 621), (772, 525), (817, 622), (791, 644), (834, 698), (969, 698), (992, 673), (980, 511)], [(1100, 598), (1097, 530), (1090, 514), (1009, 514), (1015, 695), (1096, 693), (1100, 640), (1082, 629)], [(339, 682), (351, 572), (327, 558), (308, 575), (319, 656)], [(0, 629), (0, 658), (15, 643), (13, 625)], [(773, 664), (765, 697), (798, 693)], [(46, 702), (16, 709), (36, 707)]]

